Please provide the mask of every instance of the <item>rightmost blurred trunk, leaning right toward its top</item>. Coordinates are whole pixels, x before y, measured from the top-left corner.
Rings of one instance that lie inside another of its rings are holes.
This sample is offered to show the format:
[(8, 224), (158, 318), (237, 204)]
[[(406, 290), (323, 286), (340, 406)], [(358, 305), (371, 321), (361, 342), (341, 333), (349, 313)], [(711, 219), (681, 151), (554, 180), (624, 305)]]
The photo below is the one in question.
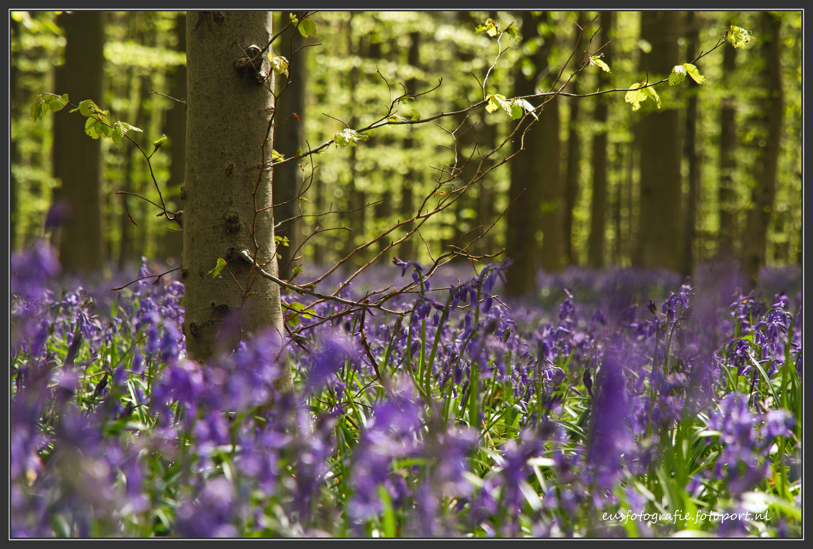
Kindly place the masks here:
[(742, 242), (743, 289), (756, 287), (759, 267), (765, 265), (765, 240), (768, 223), (773, 213), (776, 194), (776, 171), (779, 163), (780, 138), (785, 102), (782, 92), (782, 73), (779, 32), (781, 15), (762, 13), (762, 45), (759, 53), (764, 59), (762, 100), (764, 140), (759, 143), (756, 162), (756, 184), (751, 194), (752, 209), (748, 212), (746, 233)]

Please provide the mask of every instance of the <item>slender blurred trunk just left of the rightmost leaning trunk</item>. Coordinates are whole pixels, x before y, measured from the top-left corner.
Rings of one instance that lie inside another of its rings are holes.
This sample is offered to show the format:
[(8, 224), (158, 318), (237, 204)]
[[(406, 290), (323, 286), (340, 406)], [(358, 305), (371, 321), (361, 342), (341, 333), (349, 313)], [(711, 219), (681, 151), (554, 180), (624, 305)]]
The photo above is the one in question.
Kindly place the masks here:
[[(737, 68), (737, 50), (726, 42), (723, 54), (723, 80), (730, 82)], [(736, 241), (739, 235), (737, 223), (737, 184), (734, 172), (737, 170), (737, 107), (734, 97), (723, 99), (720, 109), (720, 241), (717, 257), (724, 262), (732, 262), (736, 257)]]

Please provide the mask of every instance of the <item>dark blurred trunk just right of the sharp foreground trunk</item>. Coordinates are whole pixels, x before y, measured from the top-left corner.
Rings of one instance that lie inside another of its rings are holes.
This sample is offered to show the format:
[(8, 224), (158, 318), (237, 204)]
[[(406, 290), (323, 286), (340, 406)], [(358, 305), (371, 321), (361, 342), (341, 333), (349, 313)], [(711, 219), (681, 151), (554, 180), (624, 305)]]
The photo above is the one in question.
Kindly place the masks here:
[[(286, 14), (283, 14), (287, 16)], [(284, 55), (289, 60), (288, 87), (280, 95), (277, 102), (276, 123), (281, 124), (274, 134), (274, 149), (290, 158), (297, 153), (297, 149), (305, 147), (305, 78), (307, 58), (305, 38), (297, 30), (293, 30), (293, 39), (280, 37), (277, 54)], [(277, 93), (285, 85), (285, 79), (277, 81)], [(294, 118), (294, 115), (298, 118)], [(274, 208), (276, 234), (288, 238), (288, 246), (280, 248), (280, 275), (283, 279), (293, 276), (293, 267), (300, 265), (301, 261), (293, 261), (293, 253), (302, 243), (302, 223), (289, 221), (300, 214), (297, 195), (302, 187), (302, 168), (299, 162), (289, 162), (274, 170), (274, 201), (280, 204)], [(282, 204), (287, 202), (287, 204)]]

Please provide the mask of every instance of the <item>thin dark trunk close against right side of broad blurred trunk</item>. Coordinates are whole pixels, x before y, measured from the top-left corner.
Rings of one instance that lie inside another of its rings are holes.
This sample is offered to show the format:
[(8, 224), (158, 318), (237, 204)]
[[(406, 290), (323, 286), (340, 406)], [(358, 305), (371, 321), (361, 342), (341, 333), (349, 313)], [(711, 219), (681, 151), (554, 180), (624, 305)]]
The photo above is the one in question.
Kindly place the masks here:
[[(686, 12), (686, 59), (691, 61), (697, 54), (700, 35), (700, 20), (693, 11)], [(700, 192), (700, 154), (697, 148), (698, 135), (698, 93), (700, 85), (689, 79), (689, 102), (686, 105), (686, 129), (683, 141), (683, 153), (689, 160), (689, 193), (686, 197), (685, 217), (683, 223), (683, 275), (694, 273), (694, 240), (697, 234), (697, 201)]]

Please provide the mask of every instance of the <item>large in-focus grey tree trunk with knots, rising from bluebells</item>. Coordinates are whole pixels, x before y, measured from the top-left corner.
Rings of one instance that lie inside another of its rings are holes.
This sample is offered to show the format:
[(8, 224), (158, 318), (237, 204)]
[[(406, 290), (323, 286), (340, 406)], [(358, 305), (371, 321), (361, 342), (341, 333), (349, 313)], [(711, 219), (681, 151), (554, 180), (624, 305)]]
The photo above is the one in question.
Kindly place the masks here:
[[(283, 339), (280, 288), (252, 277), (253, 295), (243, 299), (251, 266), (237, 254), (255, 254), (259, 265), (277, 275), (272, 213), (274, 110), (273, 74), (258, 84), (235, 62), (262, 48), (272, 37), (268, 11), (189, 11), (186, 19), (187, 111), (184, 197), (186, 352), (205, 361), (240, 337), (272, 330)], [(263, 61), (267, 74), (269, 63)], [(263, 147), (263, 144), (265, 145)], [(252, 193), (256, 188), (256, 200)], [(228, 262), (217, 278), (208, 275), (218, 257)], [(254, 270), (256, 275), (256, 270)], [(275, 380), (280, 391), (293, 389), (287, 361)]]

